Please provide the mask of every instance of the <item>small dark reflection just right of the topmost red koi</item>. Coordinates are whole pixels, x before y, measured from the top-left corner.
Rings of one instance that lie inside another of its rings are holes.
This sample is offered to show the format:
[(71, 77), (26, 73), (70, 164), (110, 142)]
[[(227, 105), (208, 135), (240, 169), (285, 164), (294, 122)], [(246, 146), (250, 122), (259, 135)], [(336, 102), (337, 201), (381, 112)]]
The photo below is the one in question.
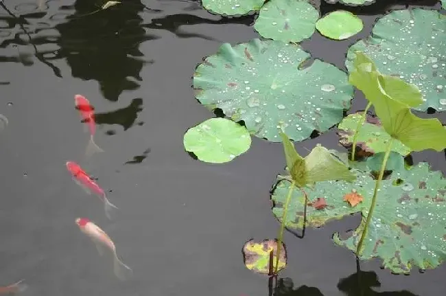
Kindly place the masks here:
[(134, 125), (138, 118), (138, 113), (142, 110), (143, 99), (136, 98), (125, 108), (106, 113), (95, 113), (95, 122), (97, 124), (119, 124), (124, 130), (128, 130), (128, 128)]

